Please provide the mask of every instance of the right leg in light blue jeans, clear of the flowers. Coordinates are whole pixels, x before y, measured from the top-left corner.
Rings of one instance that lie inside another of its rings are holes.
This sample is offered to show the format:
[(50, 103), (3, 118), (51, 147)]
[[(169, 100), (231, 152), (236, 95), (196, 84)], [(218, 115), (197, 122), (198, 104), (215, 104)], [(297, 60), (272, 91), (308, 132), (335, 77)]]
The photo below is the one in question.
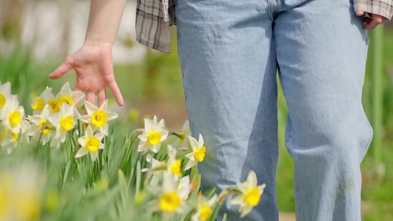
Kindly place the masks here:
[(297, 220), (360, 220), (360, 163), (373, 136), (361, 103), (362, 18), (350, 0), (281, 4), (273, 32)]

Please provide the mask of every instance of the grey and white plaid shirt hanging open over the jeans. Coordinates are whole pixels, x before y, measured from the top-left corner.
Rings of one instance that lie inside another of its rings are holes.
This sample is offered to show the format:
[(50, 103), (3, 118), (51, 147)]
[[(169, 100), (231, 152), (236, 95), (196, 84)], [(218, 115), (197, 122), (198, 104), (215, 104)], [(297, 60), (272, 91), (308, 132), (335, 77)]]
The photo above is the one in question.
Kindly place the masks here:
[[(164, 53), (170, 53), (169, 27), (176, 25), (176, 0), (138, 0), (137, 41)], [(354, 0), (355, 11), (379, 14), (388, 19), (393, 15), (393, 0)]]

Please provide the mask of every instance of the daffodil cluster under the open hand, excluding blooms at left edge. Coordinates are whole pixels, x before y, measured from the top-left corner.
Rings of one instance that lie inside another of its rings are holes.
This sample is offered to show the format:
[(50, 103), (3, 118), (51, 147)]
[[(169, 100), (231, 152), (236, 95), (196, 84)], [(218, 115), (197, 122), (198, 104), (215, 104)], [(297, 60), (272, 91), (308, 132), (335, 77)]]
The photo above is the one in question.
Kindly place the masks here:
[(70, 131), (79, 132), (75, 127), (80, 121), (88, 126), (85, 134), (78, 139), (80, 149), (75, 157), (90, 153), (91, 159), (95, 161), (98, 150), (104, 148), (101, 141), (108, 135), (108, 121), (116, 119), (118, 115), (107, 111), (107, 100), (100, 107), (84, 101), (87, 114), (81, 115), (76, 105), (81, 103), (83, 98), (84, 94), (72, 91), (68, 82), (56, 96), (52, 94), (52, 89), (47, 87), (31, 105), (34, 115), (28, 117), (32, 128), (29, 135), (41, 139), (42, 144), (50, 141), (52, 147), (59, 147)]

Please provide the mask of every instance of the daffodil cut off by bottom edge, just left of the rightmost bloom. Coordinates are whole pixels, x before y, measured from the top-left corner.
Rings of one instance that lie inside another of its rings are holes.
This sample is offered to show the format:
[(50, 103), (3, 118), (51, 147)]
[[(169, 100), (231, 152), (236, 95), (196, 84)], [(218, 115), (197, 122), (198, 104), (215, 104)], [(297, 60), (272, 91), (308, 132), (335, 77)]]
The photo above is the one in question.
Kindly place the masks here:
[(197, 211), (191, 216), (191, 221), (205, 221), (213, 213), (213, 205), (217, 201), (217, 194), (209, 200), (206, 196), (200, 195), (197, 198)]

